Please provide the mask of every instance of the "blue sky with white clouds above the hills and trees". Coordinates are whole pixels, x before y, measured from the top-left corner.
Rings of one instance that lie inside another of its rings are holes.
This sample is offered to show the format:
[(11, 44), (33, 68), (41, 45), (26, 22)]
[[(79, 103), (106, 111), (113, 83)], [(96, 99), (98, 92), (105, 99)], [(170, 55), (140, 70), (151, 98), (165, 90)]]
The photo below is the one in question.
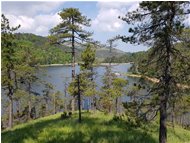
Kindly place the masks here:
[[(102, 43), (116, 35), (129, 35), (129, 25), (118, 19), (118, 16), (135, 10), (139, 2), (95, 2), (95, 1), (20, 1), (2, 2), (2, 13), (9, 18), (12, 26), (21, 24), (18, 32), (33, 33), (47, 36), (49, 30), (60, 22), (57, 14), (63, 8), (79, 8), (80, 12), (90, 18), (89, 31), (94, 32), (93, 38)], [(126, 44), (121, 41), (116, 43), (116, 48), (125, 52), (137, 52), (148, 48), (140, 45)]]

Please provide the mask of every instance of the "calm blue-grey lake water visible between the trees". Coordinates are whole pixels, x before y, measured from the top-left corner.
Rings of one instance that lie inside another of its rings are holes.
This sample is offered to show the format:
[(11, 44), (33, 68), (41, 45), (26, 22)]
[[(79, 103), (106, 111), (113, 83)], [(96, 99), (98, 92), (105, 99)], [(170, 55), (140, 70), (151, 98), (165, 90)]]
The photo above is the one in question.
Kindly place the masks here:
[[(118, 77), (124, 78), (128, 80), (128, 85), (126, 87), (130, 88), (131, 85), (138, 82), (139, 79), (137, 78), (129, 78), (124, 76), (123, 74), (127, 73), (131, 64), (118, 64), (112, 65), (111, 69), (114, 73), (120, 73), (121, 75)], [(68, 85), (71, 82), (71, 66), (50, 66), (50, 67), (43, 67), (37, 72), (37, 76), (45, 82), (51, 83), (54, 87), (54, 91), (60, 91), (64, 95), (65, 90), (65, 83)], [(105, 66), (98, 66), (94, 68), (94, 72), (96, 73), (95, 81), (98, 87), (102, 86), (102, 77), (106, 71)], [(80, 67), (76, 66), (76, 74), (80, 73)], [(41, 84), (34, 84), (32, 87), (33, 91), (36, 91), (42, 94), (44, 87)], [(68, 94), (67, 94), (68, 96)], [(121, 97), (123, 102), (129, 100), (129, 97), (124, 95)], [(86, 102), (86, 101), (85, 101)], [(86, 105), (86, 104), (85, 104)]]

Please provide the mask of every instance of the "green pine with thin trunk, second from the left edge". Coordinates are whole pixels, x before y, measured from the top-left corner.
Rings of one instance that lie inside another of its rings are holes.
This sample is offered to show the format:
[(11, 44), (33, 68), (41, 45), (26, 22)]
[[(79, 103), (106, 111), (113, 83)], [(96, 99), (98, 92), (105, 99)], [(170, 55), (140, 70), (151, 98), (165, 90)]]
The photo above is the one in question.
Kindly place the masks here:
[(31, 98), (32, 94), (32, 83), (38, 80), (36, 77), (36, 58), (33, 53), (33, 45), (30, 42), (26, 42), (24, 40), (17, 41), (19, 44), (19, 48), (16, 52), (16, 60), (18, 61), (18, 65), (15, 67), (16, 71), (16, 80), (17, 80), (17, 88), (23, 89), (28, 92), (28, 120), (31, 115)]

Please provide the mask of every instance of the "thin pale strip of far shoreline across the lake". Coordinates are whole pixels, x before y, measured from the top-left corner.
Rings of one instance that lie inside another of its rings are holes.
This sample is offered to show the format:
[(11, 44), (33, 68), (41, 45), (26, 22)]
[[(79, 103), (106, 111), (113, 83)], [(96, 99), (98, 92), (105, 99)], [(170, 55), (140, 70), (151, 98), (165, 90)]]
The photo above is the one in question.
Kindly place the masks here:
[[(116, 65), (121, 65), (121, 64), (131, 64), (132, 62), (129, 63), (111, 63), (112, 66)], [(75, 63), (75, 65), (80, 65), (81, 63)], [(108, 66), (109, 63), (99, 63), (95, 64), (94, 66)], [(71, 63), (68, 64), (48, 64), (48, 65), (38, 65), (39, 67), (57, 67), (57, 66), (72, 66)]]

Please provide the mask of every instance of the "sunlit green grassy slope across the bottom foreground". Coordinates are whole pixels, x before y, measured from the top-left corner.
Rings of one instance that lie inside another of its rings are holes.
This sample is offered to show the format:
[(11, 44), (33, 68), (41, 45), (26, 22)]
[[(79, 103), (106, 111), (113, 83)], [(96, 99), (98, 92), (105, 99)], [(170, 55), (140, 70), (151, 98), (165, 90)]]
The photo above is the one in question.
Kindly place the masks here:
[[(111, 121), (111, 115), (83, 113), (61, 120), (60, 114), (18, 125), (2, 132), (2, 143), (157, 143), (158, 126), (128, 128), (124, 122)], [(168, 143), (190, 143), (190, 131), (180, 127), (168, 129)]]

